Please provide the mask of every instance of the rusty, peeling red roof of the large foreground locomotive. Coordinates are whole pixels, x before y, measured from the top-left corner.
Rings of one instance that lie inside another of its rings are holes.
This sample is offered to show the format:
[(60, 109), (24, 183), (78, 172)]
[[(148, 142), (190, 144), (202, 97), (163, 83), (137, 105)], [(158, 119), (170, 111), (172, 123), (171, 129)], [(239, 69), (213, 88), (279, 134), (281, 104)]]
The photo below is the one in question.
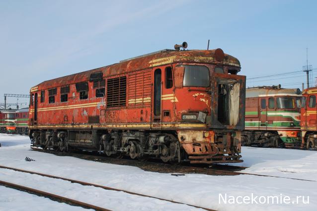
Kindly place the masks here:
[[(179, 63), (179, 62), (194, 62), (194, 63), (209, 63), (209, 64), (224, 64), (240, 68), (240, 62), (233, 56), (224, 54), (222, 61), (217, 60), (217, 52), (215, 50), (162, 50), (151, 54), (123, 60), (120, 63), (113, 65), (87, 70), (63, 77), (58, 77), (51, 80), (46, 80), (37, 86), (31, 88), (30, 92), (43, 90), (67, 84), (78, 83), (89, 80), (89, 76), (93, 72), (102, 72), (103, 76), (111, 76), (135, 70), (144, 70), (147, 68), (154, 68), (165, 64)], [(221, 49), (220, 49), (221, 50)], [(222, 51), (222, 50), (221, 50)]]

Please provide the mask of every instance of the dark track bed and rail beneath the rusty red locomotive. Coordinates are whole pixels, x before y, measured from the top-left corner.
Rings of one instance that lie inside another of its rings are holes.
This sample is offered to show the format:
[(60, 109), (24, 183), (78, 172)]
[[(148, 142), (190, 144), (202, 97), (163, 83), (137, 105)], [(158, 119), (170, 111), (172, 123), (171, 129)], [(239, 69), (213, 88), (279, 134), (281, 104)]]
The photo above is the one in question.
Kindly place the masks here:
[(263, 177), (275, 177), (275, 178), (284, 178), (284, 179), (291, 179), (291, 180), (301, 180), (301, 181), (310, 181), (310, 182), (317, 182), (317, 180), (306, 180), (306, 179), (298, 179), (298, 178), (291, 178), (291, 177), (281, 177), (281, 176), (272, 176), (272, 175), (264, 175), (264, 174), (252, 174), (252, 173), (244, 173), (239, 172), (241, 170), (246, 169), (246, 167), (240, 167), (240, 166), (232, 166), (232, 165), (213, 165), (211, 167), (207, 165), (188, 165), (188, 164), (179, 164), (179, 165), (172, 165), (172, 164), (166, 164), (158, 161), (147, 161), (142, 162), (138, 160), (133, 159), (118, 159), (113, 157), (107, 157), (104, 155), (99, 154), (91, 154), (91, 152), (60, 152), (60, 151), (54, 151), (54, 150), (43, 150), (41, 148), (33, 147), (31, 146), (32, 150), (45, 152), (45, 153), (51, 153), (58, 156), (72, 156), (77, 157), (80, 159), (85, 160), (92, 160), (97, 162), (104, 162), (104, 163), (111, 163), (111, 164), (118, 164), (118, 165), (129, 165), (129, 166), (135, 166), (139, 167), (145, 171), (153, 171), (153, 172), (159, 172), (159, 173), (182, 173), (182, 174), (207, 174), (207, 175), (229, 175), (229, 176), (235, 176), (235, 175), (254, 175), (254, 176), (263, 176)]

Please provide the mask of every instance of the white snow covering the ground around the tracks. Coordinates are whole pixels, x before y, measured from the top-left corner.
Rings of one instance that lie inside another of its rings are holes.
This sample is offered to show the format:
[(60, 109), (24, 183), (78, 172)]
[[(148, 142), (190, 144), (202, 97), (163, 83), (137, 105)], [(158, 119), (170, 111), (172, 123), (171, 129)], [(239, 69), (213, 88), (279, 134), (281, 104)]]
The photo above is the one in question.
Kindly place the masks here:
[[(32, 151), (28, 137), (23, 136), (0, 135), (0, 143), (0, 165), (4, 166), (63, 176), (219, 211), (317, 210), (315, 181), (254, 175), (186, 174), (175, 177), (147, 172), (133, 166)], [(26, 156), (36, 161), (26, 162)], [(317, 151), (243, 147), (242, 158), (244, 162), (237, 165), (249, 167), (243, 172), (317, 180)], [(31, 184), (33, 188), (54, 191), (111, 210), (197, 210), (185, 205), (78, 186), (7, 169), (0, 169), (0, 180)], [(25, 210), (22, 209), (24, 205), (34, 210), (43, 210), (44, 207), (52, 208), (50, 210), (74, 209), (66, 204), (0, 186), (0, 211)], [(79, 210), (78, 207), (75, 209)]]

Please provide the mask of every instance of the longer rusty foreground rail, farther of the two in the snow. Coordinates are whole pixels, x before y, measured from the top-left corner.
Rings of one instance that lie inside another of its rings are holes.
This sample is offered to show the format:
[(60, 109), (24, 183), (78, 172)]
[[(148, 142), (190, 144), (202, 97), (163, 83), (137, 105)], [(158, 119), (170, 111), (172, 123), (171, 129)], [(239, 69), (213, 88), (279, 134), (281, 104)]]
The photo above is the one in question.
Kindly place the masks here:
[(94, 187), (97, 187), (97, 188), (102, 188), (102, 189), (110, 190), (110, 191), (121, 191), (121, 192), (124, 192), (124, 193), (127, 193), (127, 194), (131, 194), (131, 195), (137, 195), (137, 196), (141, 196), (141, 197), (149, 197), (149, 198), (158, 199), (158, 200), (161, 200), (161, 201), (171, 202), (171, 203), (175, 203), (175, 204), (182, 204), (182, 205), (187, 205), (187, 206), (190, 206), (190, 207), (201, 208), (201, 209), (204, 209), (206, 211), (215, 211), (215, 210), (212, 210), (212, 209), (209, 209), (209, 208), (204, 208), (204, 207), (199, 207), (199, 206), (190, 205), (190, 204), (186, 204), (186, 203), (171, 201), (171, 200), (162, 199), (162, 198), (158, 198), (158, 197), (153, 197), (153, 196), (148, 196), (148, 195), (144, 195), (144, 194), (134, 193), (134, 192), (131, 192), (131, 191), (125, 191), (125, 190), (111, 188), (111, 187), (107, 187), (107, 186), (103, 186), (103, 185), (97, 185), (97, 184), (93, 184), (93, 183), (83, 182), (83, 181), (79, 181), (79, 180), (68, 179), (68, 178), (65, 178), (65, 177), (59, 177), (59, 176), (54, 176), (54, 175), (49, 175), (49, 174), (43, 174), (43, 173), (39, 173), (39, 172), (28, 171), (28, 170), (18, 169), (18, 168), (12, 168), (12, 167), (2, 166), (2, 165), (0, 165), (0, 168), (10, 169), (10, 170), (14, 170), (14, 171), (23, 172), (23, 173), (36, 174), (36, 175), (40, 175), (40, 176), (43, 176), (43, 177), (49, 177), (49, 178), (54, 178), (54, 179), (61, 179), (61, 180), (69, 181), (69, 182), (72, 182), (72, 183), (78, 183), (80, 185), (94, 186)]

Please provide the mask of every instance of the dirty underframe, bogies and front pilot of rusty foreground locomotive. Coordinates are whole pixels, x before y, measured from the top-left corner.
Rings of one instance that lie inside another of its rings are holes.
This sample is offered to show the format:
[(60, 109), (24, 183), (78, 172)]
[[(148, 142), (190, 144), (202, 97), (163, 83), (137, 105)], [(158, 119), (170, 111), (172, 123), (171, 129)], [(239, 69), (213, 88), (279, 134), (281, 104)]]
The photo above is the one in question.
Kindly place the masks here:
[(31, 130), (33, 146), (68, 151), (99, 151), (132, 159), (154, 157), (164, 162), (236, 163), (240, 132), (177, 130), (48, 129)]

